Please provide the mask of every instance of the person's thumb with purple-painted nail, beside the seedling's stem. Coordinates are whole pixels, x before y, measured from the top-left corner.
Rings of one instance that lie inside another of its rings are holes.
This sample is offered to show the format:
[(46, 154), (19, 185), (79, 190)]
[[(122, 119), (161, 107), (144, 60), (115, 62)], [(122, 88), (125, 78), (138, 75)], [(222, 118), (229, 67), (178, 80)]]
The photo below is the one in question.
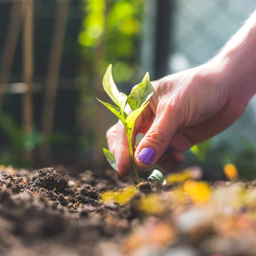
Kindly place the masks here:
[(137, 146), (135, 163), (140, 169), (149, 169), (154, 166), (175, 134), (177, 118), (172, 108), (172, 105), (165, 105), (157, 109), (151, 127)]

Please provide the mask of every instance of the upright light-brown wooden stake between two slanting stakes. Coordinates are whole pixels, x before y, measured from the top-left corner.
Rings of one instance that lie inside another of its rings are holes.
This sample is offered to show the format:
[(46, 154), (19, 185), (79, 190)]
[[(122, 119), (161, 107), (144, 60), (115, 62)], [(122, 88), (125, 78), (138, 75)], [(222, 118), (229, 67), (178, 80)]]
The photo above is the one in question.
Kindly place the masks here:
[[(33, 132), (33, 102), (32, 102), (32, 79), (33, 79), (33, 0), (24, 2), (24, 27), (23, 27), (23, 82), (28, 90), (23, 93), (22, 114), (23, 130), (26, 135)], [(30, 151), (25, 151), (25, 159), (32, 160)]]

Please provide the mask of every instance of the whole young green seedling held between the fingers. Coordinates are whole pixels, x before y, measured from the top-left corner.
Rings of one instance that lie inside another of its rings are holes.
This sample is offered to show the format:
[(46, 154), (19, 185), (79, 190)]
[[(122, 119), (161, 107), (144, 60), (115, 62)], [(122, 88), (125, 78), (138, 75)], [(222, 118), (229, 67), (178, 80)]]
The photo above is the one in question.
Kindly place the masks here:
[[(131, 154), (131, 160), (132, 160), (132, 165), (134, 169), (134, 174), (137, 179), (137, 183), (140, 183), (140, 177), (138, 174), (137, 166), (134, 161), (134, 151), (131, 143), (131, 138), (132, 134), (134, 131), (134, 126), (135, 126), (135, 121), (138, 116), (142, 113), (142, 111), (145, 109), (145, 107), (148, 105), (148, 100), (154, 93), (154, 89), (151, 85), (150, 78), (149, 78), (149, 73), (147, 72), (140, 84), (135, 87), (135, 89), (131, 92), (129, 96), (127, 96), (125, 93), (120, 93), (119, 90), (116, 87), (116, 84), (113, 80), (112, 76), (112, 65), (110, 64), (108, 66), (108, 69), (103, 77), (103, 88), (105, 92), (108, 94), (110, 99), (113, 101), (113, 103), (116, 106), (113, 106), (111, 104), (108, 104), (106, 102), (103, 102), (99, 100), (103, 105), (105, 105), (111, 112), (113, 112), (123, 123), (125, 127), (125, 133), (128, 138), (128, 143), (129, 143), (129, 149), (130, 149), (130, 154)], [(126, 103), (131, 108), (131, 113), (127, 114), (125, 113), (124, 109), (126, 106)], [(116, 161), (114, 154), (111, 153), (108, 149), (103, 148), (103, 152), (108, 160), (108, 163), (113, 167), (113, 169), (116, 170)], [(158, 183), (165, 183), (165, 178), (161, 172), (158, 170), (154, 170), (151, 172), (149, 175), (148, 179), (153, 179), (156, 180)], [(134, 182), (131, 180), (131, 178), (128, 176), (128, 179), (133, 183), (135, 186)]]

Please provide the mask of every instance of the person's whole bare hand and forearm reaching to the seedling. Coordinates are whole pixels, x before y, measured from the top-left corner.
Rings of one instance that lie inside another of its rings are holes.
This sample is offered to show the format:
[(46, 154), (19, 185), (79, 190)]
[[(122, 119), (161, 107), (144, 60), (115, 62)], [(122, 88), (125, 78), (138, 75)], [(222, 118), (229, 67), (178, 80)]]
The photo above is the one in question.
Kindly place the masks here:
[[(158, 164), (166, 171), (177, 169), (184, 161), (183, 151), (224, 131), (241, 116), (256, 93), (255, 46), (256, 12), (212, 60), (152, 82), (154, 95), (134, 128), (133, 145), (136, 134), (144, 135), (134, 152), (138, 167)], [(125, 177), (132, 163), (122, 123), (113, 125), (106, 136), (117, 173)]]

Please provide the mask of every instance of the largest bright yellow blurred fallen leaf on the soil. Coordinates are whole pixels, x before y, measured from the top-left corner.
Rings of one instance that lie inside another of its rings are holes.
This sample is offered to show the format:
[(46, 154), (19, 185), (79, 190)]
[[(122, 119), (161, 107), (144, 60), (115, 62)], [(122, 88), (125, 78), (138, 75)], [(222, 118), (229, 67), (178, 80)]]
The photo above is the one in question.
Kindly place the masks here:
[(196, 204), (207, 203), (211, 198), (211, 189), (205, 181), (186, 180), (183, 189)]

